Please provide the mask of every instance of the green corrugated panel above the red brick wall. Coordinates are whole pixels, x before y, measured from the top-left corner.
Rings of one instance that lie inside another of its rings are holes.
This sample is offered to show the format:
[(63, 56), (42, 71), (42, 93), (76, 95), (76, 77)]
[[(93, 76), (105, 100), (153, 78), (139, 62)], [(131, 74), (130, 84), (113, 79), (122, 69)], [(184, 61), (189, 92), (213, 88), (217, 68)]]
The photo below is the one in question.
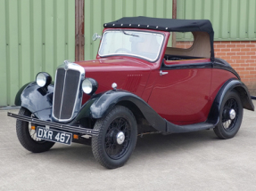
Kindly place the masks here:
[[(256, 40), (256, 0), (178, 0), (178, 19), (211, 20), (215, 40)], [(189, 36), (184, 36), (189, 38)]]

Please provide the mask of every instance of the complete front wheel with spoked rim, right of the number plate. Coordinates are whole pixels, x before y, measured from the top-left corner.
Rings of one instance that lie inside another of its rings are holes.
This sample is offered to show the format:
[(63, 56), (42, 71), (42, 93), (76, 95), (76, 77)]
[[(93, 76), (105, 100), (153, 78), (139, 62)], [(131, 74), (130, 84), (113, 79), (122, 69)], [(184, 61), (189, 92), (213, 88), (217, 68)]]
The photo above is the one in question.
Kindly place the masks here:
[(108, 169), (122, 166), (136, 147), (137, 127), (133, 113), (122, 106), (114, 107), (95, 123), (99, 135), (92, 138), (95, 159)]

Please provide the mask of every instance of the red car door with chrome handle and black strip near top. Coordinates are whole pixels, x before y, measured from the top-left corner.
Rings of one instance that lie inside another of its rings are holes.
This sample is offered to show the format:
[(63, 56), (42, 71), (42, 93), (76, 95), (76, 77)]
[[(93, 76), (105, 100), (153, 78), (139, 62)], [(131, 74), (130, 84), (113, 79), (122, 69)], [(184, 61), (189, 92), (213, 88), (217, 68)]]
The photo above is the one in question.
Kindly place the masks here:
[(211, 109), (211, 60), (165, 61), (148, 104), (171, 123), (200, 123)]

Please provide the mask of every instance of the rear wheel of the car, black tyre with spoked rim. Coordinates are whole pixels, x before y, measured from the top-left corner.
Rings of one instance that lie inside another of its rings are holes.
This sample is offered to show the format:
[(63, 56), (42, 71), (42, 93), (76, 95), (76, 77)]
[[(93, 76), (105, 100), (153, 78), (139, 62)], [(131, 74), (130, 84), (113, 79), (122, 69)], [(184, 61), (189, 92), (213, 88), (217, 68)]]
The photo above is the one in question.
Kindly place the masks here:
[(220, 139), (230, 139), (239, 131), (243, 119), (243, 106), (238, 93), (227, 92), (221, 103), (219, 123), (214, 128)]

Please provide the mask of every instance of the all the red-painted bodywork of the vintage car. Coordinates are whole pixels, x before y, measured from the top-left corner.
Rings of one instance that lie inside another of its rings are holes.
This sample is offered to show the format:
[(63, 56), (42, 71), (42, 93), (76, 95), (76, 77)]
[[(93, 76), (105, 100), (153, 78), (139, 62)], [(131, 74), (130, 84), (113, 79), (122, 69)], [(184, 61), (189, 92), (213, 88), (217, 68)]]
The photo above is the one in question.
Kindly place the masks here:
[[(116, 29), (118, 28), (105, 28), (103, 31)], [(204, 122), (219, 88), (235, 75), (222, 69), (186, 68), (163, 70), (169, 74), (160, 76), (161, 61), (169, 40), (169, 32), (161, 33), (165, 39), (159, 60), (154, 63), (128, 56), (101, 58), (99, 55), (96, 60), (76, 63), (85, 68), (86, 77), (92, 77), (98, 82), (96, 93), (109, 91), (112, 89), (111, 84), (116, 83), (118, 89), (128, 90), (141, 97), (171, 123)], [(182, 65), (209, 61), (211, 60), (175, 60), (166, 61), (165, 64)], [(84, 94), (82, 104), (89, 98)]]

